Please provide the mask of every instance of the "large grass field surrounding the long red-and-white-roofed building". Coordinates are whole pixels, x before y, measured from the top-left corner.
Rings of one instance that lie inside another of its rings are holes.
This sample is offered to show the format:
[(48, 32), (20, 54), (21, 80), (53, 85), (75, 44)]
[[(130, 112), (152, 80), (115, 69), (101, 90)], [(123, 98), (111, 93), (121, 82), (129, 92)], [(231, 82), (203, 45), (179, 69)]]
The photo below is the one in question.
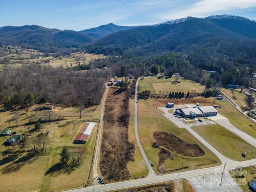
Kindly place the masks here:
[[(10, 122), (10, 129), (17, 134), (31, 134), (35, 138), (42, 130), (49, 130), (49, 144), (46, 153), (40, 156), (25, 158), (30, 150), (30, 146), (26, 147), (26, 152), (20, 151), (18, 147), (0, 146), (0, 178), (3, 182), (10, 183), (15, 178), (15, 182), (6, 186), (0, 186), (0, 191), (60, 191), (70, 188), (82, 187), (86, 184), (92, 154), (96, 140), (98, 124), (88, 140), (83, 146), (86, 148), (84, 157), (75, 167), (66, 166), (60, 169), (58, 166), (60, 161), (60, 151), (63, 146), (68, 148), (77, 148), (79, 145), (72, 144), (74, 138), (82, 128), (85, 122), (94, 120), (99, 121), (100, 106), (92, 106), (82, 110), (82, 118), (79, 119), (79, 113), (76, 108), (65, 106), (57, 106), (54, 113), (64, 116), (64, 120), (58, 122), (43, 123), (43, 127), (39, 132), (33, 132), (34, 125), (24, 125), (28, 122), (28, 118), (35, 115), (34, 106), (26, 114), (24, 112), (19, 116), (18, 127), (16, 122)], [(8, 117), (14, 112), (1, 112), (1, 127), (8, 126)], [(44, 112), (37, 112), (37, 116), (43, 115)], [(57, 124), (58, 123), (58, 124)], [(31, 127), (28, 129), (28, 127)], [(62, 137), (60, 137), (63, 134)], [(10, 136), (0, 137), (0, 142), (4, 143)], [(22, 158), (23, 157), (23, 158)], [(91, 178), (90, 178), (91, 179)], [(68, 181), (68, 182), (67, 182)]]

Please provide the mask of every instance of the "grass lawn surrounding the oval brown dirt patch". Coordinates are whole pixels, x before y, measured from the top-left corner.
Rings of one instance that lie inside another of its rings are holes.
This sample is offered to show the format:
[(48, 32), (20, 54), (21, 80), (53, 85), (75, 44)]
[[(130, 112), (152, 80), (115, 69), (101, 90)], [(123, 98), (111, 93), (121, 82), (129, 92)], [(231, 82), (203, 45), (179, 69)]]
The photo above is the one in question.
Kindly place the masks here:
[[(158, 165), (158, 152), (160, 151), (160, 148), (152, 147), (152, 144), (155, 142), (153, 133), (155, 131), (162, 131), (174, 134), (185, 142), (198, 144), (205, 152), (205, 155), (200, 157), (187, 157), (172, 152), (174, 160), (168, 159), (163, 164), (167, 172), (181, 168), (182, 162), (183, 166), (189, 167), (189, 170), (198, 168), (196, 165), (210, 164), (208, 166), (216, 166), (220, 164), (220, 160), (212, 154), (208, 148), (194, 138), (194, 136), (192, 136), (186, 129), (178, 128), (163, 116), (163, 112), (161, 110), (156, 110), (154, 106), (158, 104), (158, 101), (154, 99), (140, 100), (138, 102), (138, 134), (140, 142), (150, 161), (154, 162), (156, 166)], [(158, 173), (156, 166), (154, 166), (154, 170)], [(207, 166), (202, 166), (200, 168), (204, 167)]]

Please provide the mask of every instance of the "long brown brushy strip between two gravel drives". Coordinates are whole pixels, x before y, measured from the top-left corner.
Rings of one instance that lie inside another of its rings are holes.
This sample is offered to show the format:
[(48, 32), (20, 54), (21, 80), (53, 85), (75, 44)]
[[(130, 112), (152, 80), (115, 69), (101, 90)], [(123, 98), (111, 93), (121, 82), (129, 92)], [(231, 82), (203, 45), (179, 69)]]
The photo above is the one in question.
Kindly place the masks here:
[(127, 94), (127, 91), (110, 88), (106, 99), (100, 154), (103, 180), (123, 180), (131, 177), (127, 163), (134, 161), (135, 146), (128, 140)]

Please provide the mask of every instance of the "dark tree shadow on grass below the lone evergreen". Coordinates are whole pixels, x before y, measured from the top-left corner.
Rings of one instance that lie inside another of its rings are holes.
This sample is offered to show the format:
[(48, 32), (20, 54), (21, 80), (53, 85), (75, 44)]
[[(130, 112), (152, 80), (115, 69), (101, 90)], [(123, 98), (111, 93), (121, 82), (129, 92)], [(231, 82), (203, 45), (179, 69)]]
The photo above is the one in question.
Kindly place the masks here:
[(59, 174), (71, 174), (76, 168), (80, 166), (80, 162), (78, 163), (70, 163), (70, 164), (61, 164), (60, 162), (50, 167), (44, 175), (51, 174), (51, 176), (58, 176)]

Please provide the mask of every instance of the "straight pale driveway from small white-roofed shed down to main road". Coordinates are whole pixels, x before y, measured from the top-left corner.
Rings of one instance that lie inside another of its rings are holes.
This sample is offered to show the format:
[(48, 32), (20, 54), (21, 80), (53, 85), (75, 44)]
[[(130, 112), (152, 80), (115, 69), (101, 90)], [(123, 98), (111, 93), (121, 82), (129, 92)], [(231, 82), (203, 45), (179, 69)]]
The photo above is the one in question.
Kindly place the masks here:
[(176, 126), (178, 126), (179, 128), (185, 128), (186, 130), (188, 130), (196, 139), (198, 139), (209, 150), (211, 150), (221, 160), (222, 164), (225, 164), (225, 162), (227, 163), (234, 162), (234, 160), (231, 160), (230, 158), (227, 158), (224, 155), (222, 155), (220, 152), (218, 152), (218, 150), (216, 150), (212, 145), (210, 145), (206, 140), (204, 140), (204, 138), (202, 138), (199, 134), (197, 134), (194, 130), (192, 130), (192, 128), (190, 128), (188, 124), (184, 124), (183, 122), (184, 120), (182, 118), (180, 119), (175, 118), (172, 114), (168, 112), (169, 109), (166, 110), (165, 107), (159, 107), (159, 109), (165, 112), (164, 116), (168, 118), (170, 121), (172, 121), (174, 124), (176, 124)]

